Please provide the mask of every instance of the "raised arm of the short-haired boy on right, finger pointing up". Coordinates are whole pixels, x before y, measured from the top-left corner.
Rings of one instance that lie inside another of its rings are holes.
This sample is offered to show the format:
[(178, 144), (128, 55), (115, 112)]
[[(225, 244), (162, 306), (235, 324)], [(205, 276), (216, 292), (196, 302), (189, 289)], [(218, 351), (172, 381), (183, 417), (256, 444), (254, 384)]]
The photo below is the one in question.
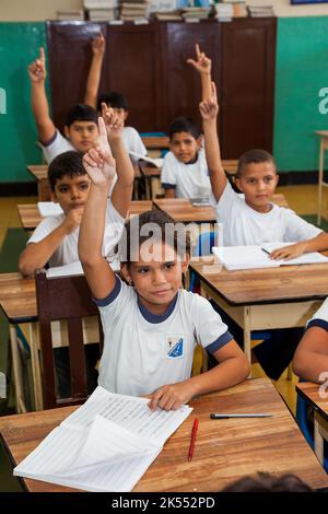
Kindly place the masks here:
[(221, 152), (216, 128), (219, 105), (214, 82), (211, 84), (211, 92), (212, 94), (210, 98), (199, 104), (199, 110), (202, 117), (206, 157), (210, 172), (212, 191), (215, 200), (219, 201), (226, 186), (226, 176), (221, 163)]

